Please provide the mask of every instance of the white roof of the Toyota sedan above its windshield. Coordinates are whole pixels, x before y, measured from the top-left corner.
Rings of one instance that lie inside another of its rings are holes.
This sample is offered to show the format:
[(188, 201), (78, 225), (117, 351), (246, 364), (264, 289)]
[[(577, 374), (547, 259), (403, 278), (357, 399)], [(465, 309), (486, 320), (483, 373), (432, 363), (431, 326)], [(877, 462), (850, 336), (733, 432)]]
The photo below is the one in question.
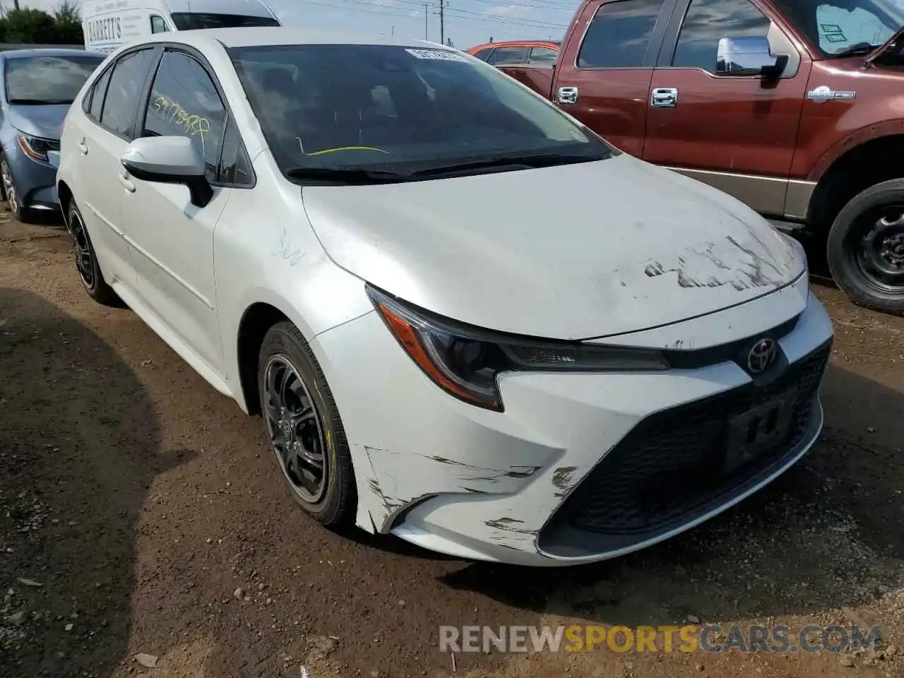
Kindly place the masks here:
[(362, 33), (332, 33), (329, 31), (291, 28), (287, 26), (242, 26), (240, 28), (205, 28), (196, 31), (176, 31), (173, 33), (156, 33), (146, 40), (132, 42), (136, 44), (152, 44), (154, 42), (180, 42), (198, 49), (211, 48), (218, 43), (229, 47), (264, 47), (270, 45), (290, 44), (348, 44), (348, 45), (397, 45), (401, 47), (419, 47), (444, 49), (460, 53), (452, 47), (428, 42), (425, 40), (406, 40), (402, 38), (374, 38)]

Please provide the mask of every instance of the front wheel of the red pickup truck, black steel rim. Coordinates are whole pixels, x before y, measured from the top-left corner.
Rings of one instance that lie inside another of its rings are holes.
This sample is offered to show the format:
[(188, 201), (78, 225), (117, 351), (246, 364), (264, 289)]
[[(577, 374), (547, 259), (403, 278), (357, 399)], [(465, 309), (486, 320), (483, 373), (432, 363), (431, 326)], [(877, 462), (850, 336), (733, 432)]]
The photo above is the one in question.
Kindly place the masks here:
[(855, 304), (904, 315), (904, 179), (871, 186), (844, 205), (826, 259)]

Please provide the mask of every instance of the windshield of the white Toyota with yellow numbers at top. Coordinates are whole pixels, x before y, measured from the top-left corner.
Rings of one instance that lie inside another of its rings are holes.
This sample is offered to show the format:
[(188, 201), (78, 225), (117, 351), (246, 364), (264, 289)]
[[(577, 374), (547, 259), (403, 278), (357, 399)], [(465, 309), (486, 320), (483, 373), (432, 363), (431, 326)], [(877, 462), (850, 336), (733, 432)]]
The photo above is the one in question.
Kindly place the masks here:
[(611, 155), (557, 108), (460, 52), (312, 44), (230, 53), (284, 173), (293, 167), (410, 172), (501, 156), (560, 155), (564, 163)]

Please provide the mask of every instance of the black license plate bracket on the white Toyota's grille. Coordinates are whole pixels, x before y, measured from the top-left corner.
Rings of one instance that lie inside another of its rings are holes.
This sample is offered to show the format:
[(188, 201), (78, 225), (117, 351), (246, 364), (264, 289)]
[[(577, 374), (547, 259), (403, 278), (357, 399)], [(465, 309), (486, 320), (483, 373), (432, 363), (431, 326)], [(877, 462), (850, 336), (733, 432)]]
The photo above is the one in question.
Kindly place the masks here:
[(725, 472), (730, 473), (787, 438), (794, 419), (797, 390), (785, 391), (729, 419)]

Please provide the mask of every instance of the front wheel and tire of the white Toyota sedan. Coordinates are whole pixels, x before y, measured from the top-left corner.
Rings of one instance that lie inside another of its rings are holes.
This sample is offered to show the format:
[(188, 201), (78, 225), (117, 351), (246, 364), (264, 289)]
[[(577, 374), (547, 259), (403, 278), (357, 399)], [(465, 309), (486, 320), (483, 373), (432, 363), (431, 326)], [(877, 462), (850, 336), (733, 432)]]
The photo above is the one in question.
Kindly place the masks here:
[(290, 494), (318, 523), (348, 522), (356, 504), (352, 456), (333, 393), (295, 325), (268, 330), (258, 366), (260, 411)]

